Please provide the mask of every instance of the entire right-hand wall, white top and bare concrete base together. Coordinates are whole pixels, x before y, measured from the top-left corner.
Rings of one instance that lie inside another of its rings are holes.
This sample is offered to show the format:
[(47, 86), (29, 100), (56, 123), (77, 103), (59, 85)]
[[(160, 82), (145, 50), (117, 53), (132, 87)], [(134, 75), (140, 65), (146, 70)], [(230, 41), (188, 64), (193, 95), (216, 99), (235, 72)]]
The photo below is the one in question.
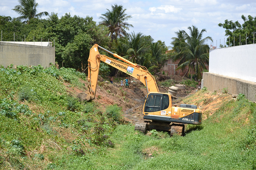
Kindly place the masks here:
[(224, 88), (256, 101), (256, 44), (210, 51), (209, 72), (203, 73), (202, 87), (211, 92)]

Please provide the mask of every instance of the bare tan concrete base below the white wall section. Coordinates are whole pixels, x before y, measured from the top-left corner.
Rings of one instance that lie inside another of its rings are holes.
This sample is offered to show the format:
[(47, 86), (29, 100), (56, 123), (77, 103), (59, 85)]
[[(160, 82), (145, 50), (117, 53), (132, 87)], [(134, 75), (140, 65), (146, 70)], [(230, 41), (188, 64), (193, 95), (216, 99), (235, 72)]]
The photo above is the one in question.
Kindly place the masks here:
[(222, 92), (224, 88), (233, 94), (244, 94), (251, 101), (256, 101), (256, 82), (250, 82), (240, 78), (233, 78), (214, 74), (210, 72), (203, 73), (203, 86), (214, 92)]

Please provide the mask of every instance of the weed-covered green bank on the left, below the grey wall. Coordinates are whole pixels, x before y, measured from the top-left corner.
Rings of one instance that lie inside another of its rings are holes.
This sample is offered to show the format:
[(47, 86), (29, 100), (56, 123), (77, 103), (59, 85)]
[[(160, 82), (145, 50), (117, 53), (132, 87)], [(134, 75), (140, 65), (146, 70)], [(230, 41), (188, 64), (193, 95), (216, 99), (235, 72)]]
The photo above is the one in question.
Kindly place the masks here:
[(110, 134), (121, 121), (121, 108), (102, 112), (74, 98), (64, 83), (86, 90), (85, 74), (73, 68), (0, 68), (0, 169), (53, 168), (64, 155), (90, 152), (86, 145), (114, 147)]

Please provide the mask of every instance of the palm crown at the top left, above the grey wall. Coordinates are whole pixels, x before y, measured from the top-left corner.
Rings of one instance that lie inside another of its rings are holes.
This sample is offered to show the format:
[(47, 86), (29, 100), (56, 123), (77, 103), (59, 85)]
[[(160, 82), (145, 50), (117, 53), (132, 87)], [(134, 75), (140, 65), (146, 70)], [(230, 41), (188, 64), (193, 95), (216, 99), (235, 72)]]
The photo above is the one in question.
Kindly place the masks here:
[(19, 2), (20, 5), (16, 5), (12, 10), (21, 15), (17, 17), (17, 19), (25, 20), (24, 22), (28, 24), (30, 23), (31, 18), (41, 18), (42, 16), (49, 15), (48, 12), (40, 12), (36, 14), (38, 3), (35, 0), (19, 0)]

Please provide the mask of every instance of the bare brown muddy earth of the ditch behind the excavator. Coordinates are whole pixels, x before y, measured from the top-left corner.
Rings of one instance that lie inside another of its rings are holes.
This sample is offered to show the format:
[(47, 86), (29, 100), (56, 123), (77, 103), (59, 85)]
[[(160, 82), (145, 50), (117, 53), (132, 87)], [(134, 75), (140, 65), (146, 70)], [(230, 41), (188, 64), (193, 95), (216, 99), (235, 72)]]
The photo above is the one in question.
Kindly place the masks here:
[[(182, 81), (184, 79), (180, 76), (167, 78), (172, 78), (176, 81)], [(113, 84), (109, 81), (99, 82), (100, 87), (97, 88), (95, 101), (103, 105), (117, 104), (122, 107), (122, 110), (124, 111), (124, 119), (135, 124), (136, 121), (143, 120), (141, 111), (142, 103), (147, 94), (146, 87), (133, 77), (128, 78), (130, 82), (129, 88), (125, 88), (124, 86), (121, 87), (119, 83), (120, 79), (121, 78), (115, 78)], [(158, 88), (160, 92), (168, 93), (169, 87), (161, 86)], [(179, 89), (176, 95), (177, 99), (173, 99), (172, 103), (178, 103), (181, 98), (184, 98), (195, 91), (196, 88), (188, 86), (186, 86), (186, 89), (184, 90)]]

